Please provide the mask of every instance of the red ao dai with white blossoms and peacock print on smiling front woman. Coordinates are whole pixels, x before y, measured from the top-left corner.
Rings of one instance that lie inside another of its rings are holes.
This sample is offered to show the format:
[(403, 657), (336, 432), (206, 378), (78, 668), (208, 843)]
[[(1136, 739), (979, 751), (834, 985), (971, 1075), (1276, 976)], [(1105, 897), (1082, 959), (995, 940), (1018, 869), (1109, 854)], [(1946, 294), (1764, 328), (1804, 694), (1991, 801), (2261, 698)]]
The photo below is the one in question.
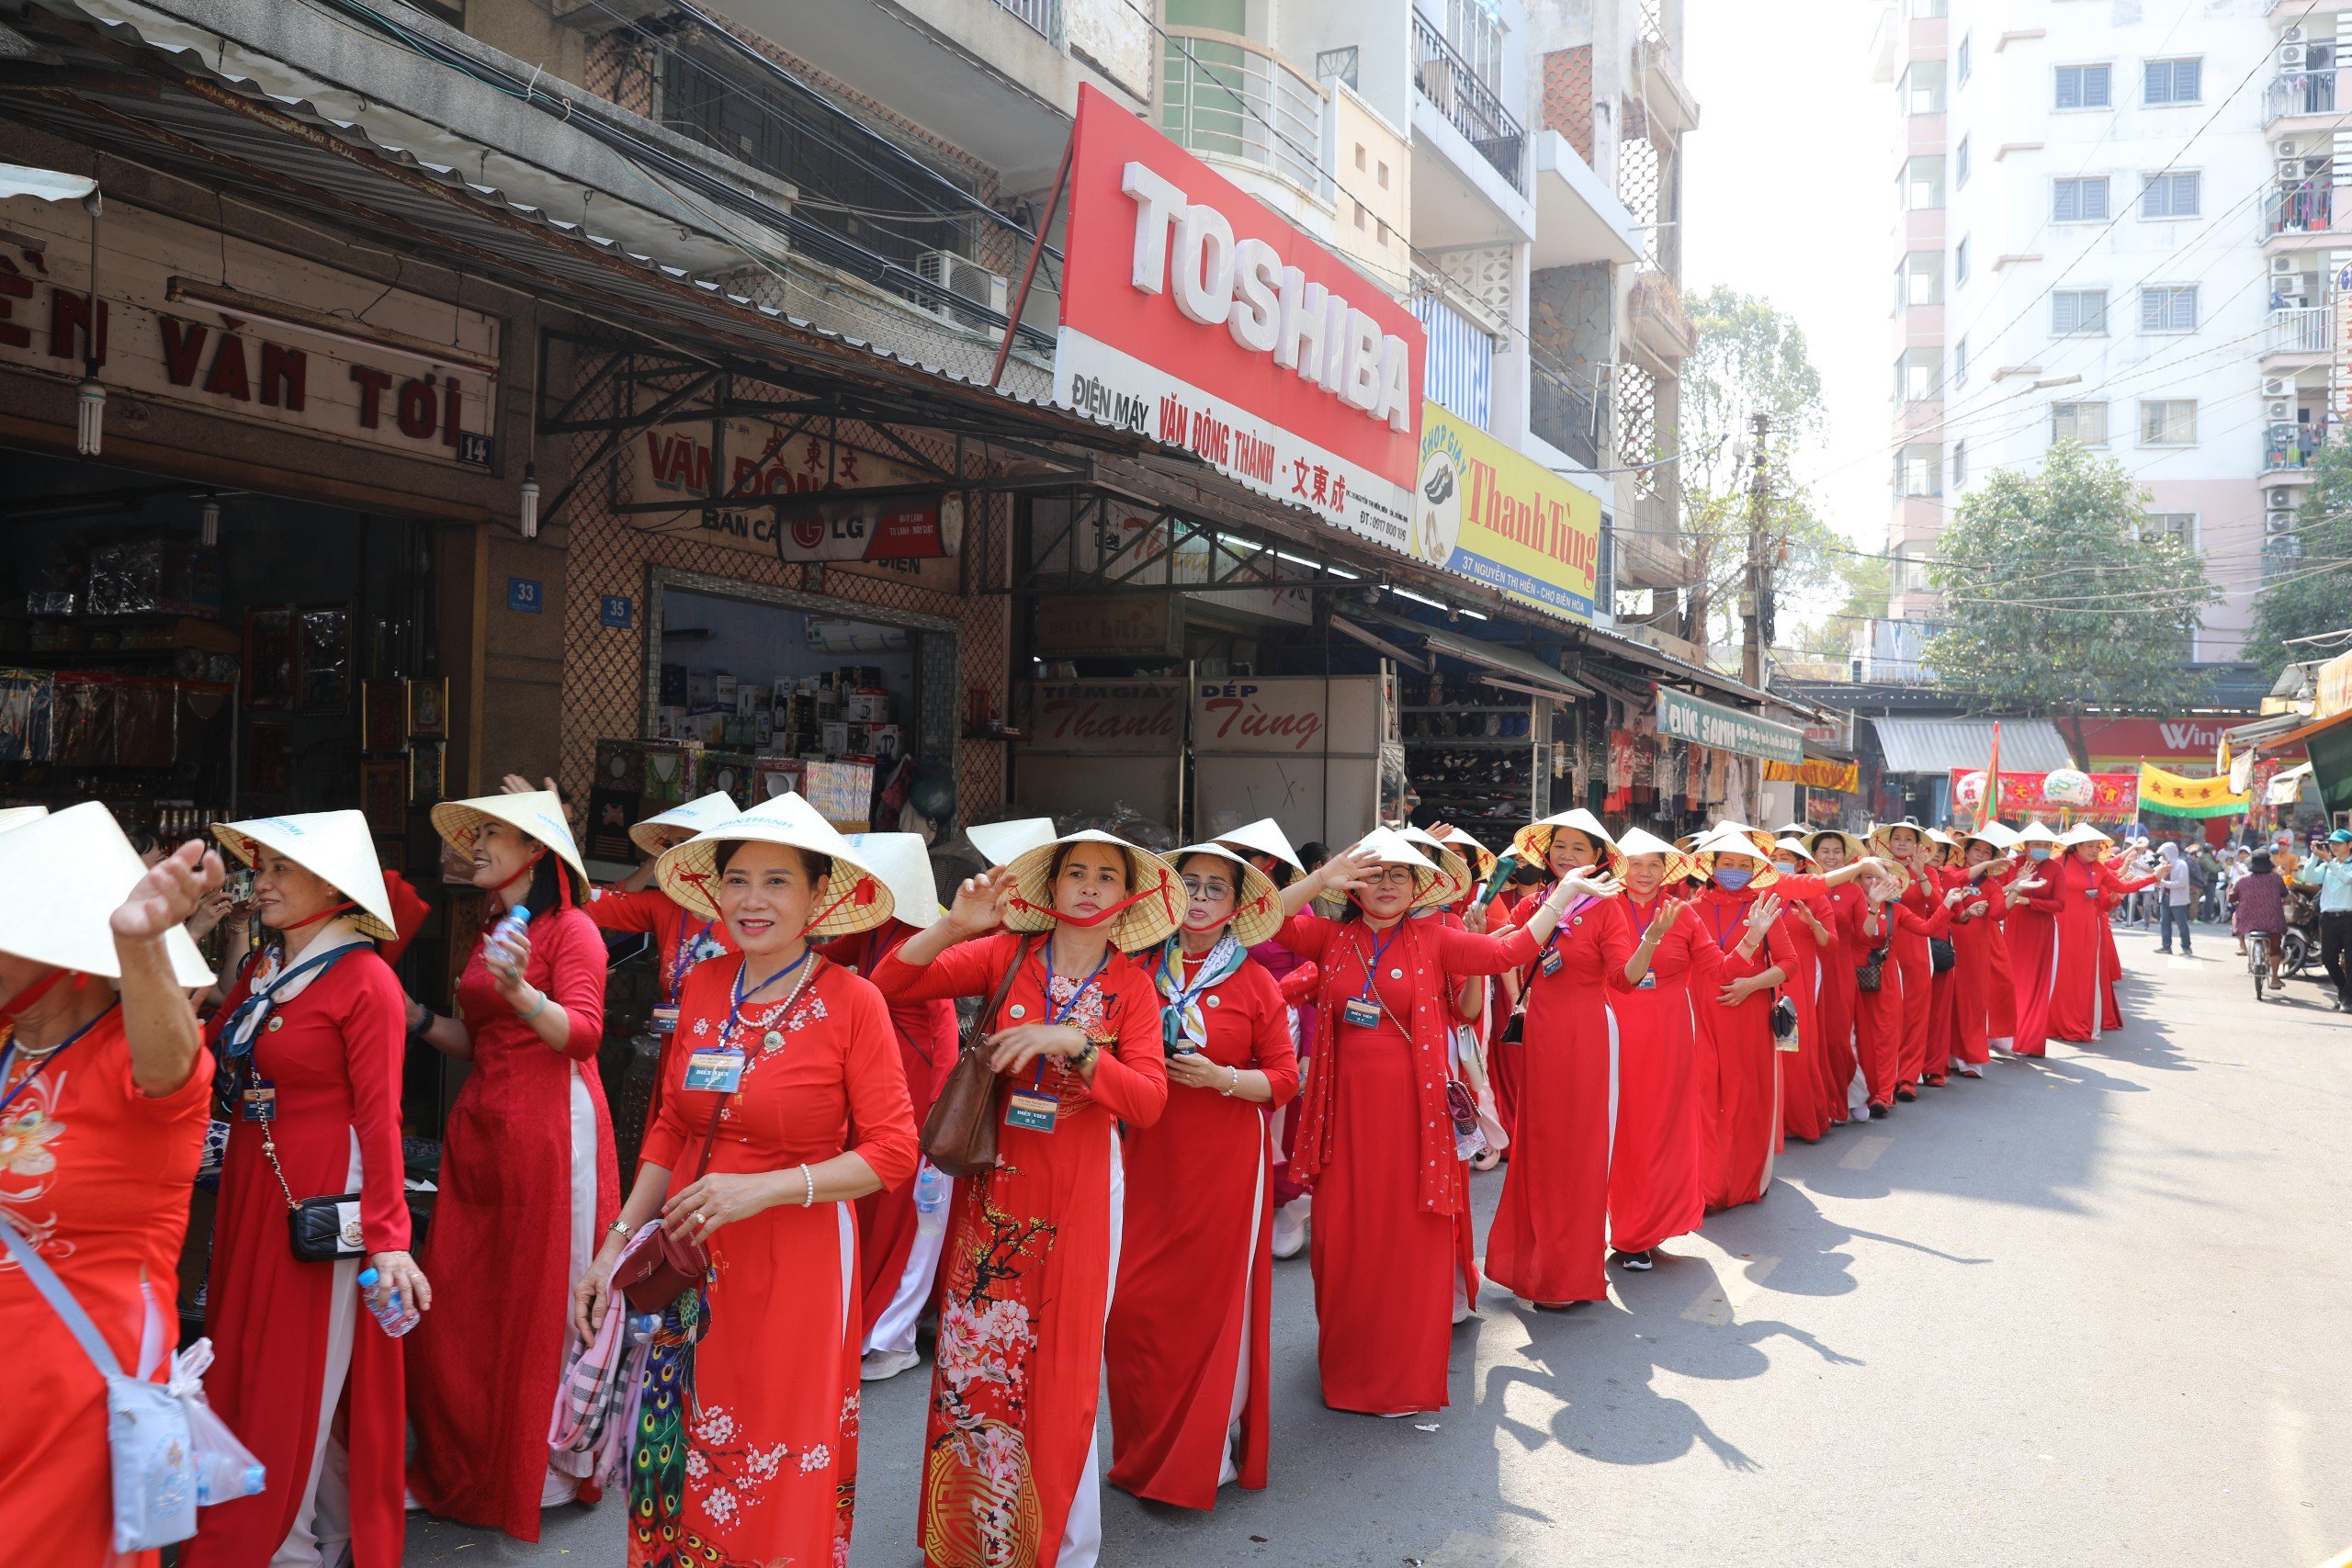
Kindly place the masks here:
[[(743, 959), (710, 959), (687, 976), (682, 1048), (668, 1056), (661, 1112), (644, 1135), (644, 1164), (670, 1173), (673, 1194), (696, 1180), (713, 1112), (713, 1173), (793, 1171), (842, 1152), (887, 1187), (915, 1173), (889, 1011), (870, 983), (818, 954), (809, 961), (816, 971), (797, 994), (746, 1009), (734, 1030)], [(736, 1093), (687, 1088), (691, 1051), (722, 1037), (746, 1053)], [(790, 1192), (710, 1237), (708, 1331), (689, 1352), (689, 1392), (656, 1408), (647, 1389), (635, 1432), (630, 1568), (849, 1561), (866, 1338), (856, 1206), (804, 1208)], [(680, 1472), (644, 1486), (642, 1472), (666, 1446), (682, 1448)]]

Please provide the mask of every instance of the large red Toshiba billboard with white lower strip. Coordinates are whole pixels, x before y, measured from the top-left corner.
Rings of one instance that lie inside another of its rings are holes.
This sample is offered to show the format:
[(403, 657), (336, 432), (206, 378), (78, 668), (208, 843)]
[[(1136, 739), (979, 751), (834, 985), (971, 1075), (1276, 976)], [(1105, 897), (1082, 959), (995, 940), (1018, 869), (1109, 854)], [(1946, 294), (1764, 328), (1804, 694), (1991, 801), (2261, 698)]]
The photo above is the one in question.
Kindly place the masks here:
[(1075, 136), (1054, 400), (1404, 550), (1421, 322), (1094, 87)]

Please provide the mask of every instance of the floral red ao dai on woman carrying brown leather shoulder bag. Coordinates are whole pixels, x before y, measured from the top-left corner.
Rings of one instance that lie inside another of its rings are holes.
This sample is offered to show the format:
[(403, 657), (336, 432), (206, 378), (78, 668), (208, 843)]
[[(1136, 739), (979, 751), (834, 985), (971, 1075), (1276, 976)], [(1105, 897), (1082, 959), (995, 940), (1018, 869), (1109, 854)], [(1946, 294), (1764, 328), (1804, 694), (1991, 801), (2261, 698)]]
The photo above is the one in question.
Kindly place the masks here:
[(1117, 1126), (1148, 1128), (1167, 1107), (1160, 992), (1122, 952), (1091, 980), (1049, 976), (1044, 938), (1009, 931), (920, 966), (891, 952), (875, 985), (891, 999), (990, 997), (1023, 943), (983, 1032), (1068, 1023), (1101, 1056), (1094, 1084), (1044, 1058), (1035, 1081), (1058, 1103), (1054, 1131), (1000, 1126), (997, 1168), (955, 1185), (924, 1439), (927, 1568), (1075, 1568), (1101, 1547), (1094, 1418), (1120, 1269)]

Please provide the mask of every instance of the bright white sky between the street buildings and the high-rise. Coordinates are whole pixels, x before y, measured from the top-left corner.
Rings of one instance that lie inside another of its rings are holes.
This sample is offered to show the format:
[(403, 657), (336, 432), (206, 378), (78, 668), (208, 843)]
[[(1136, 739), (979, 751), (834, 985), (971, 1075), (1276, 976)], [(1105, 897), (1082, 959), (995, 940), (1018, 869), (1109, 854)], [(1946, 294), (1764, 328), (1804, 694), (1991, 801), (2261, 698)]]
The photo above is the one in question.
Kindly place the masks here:
[(1795, 461), (1832, 529), (1886, 548), (1893, 378), (1893, 87), (1879, 0), (1686, 0), (1682, 287), (1731, 284), (1804, 327), (1828, 430)]

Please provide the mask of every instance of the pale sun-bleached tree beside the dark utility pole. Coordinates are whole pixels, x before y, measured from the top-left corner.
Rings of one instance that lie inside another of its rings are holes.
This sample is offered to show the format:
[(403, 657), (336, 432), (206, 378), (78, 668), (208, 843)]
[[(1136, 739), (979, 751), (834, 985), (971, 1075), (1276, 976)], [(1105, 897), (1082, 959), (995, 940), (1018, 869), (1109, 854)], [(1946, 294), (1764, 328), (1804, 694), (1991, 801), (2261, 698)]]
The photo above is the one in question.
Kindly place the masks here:
[(1682, 362), (1682, 635), (1738, 637), (1750, 534), (1752, 418), (1771, 416), (1764, 508), (1766, 550), (1776, 557), (1778, 597), (1832, 585), (1837, 543), (1811, 496), (1788, 484), (1788, 456), (1823, 428), (1820, 371), (1804, 329), (1771, 301), (1717, 284), (1686, 301), (1698, 350)]

